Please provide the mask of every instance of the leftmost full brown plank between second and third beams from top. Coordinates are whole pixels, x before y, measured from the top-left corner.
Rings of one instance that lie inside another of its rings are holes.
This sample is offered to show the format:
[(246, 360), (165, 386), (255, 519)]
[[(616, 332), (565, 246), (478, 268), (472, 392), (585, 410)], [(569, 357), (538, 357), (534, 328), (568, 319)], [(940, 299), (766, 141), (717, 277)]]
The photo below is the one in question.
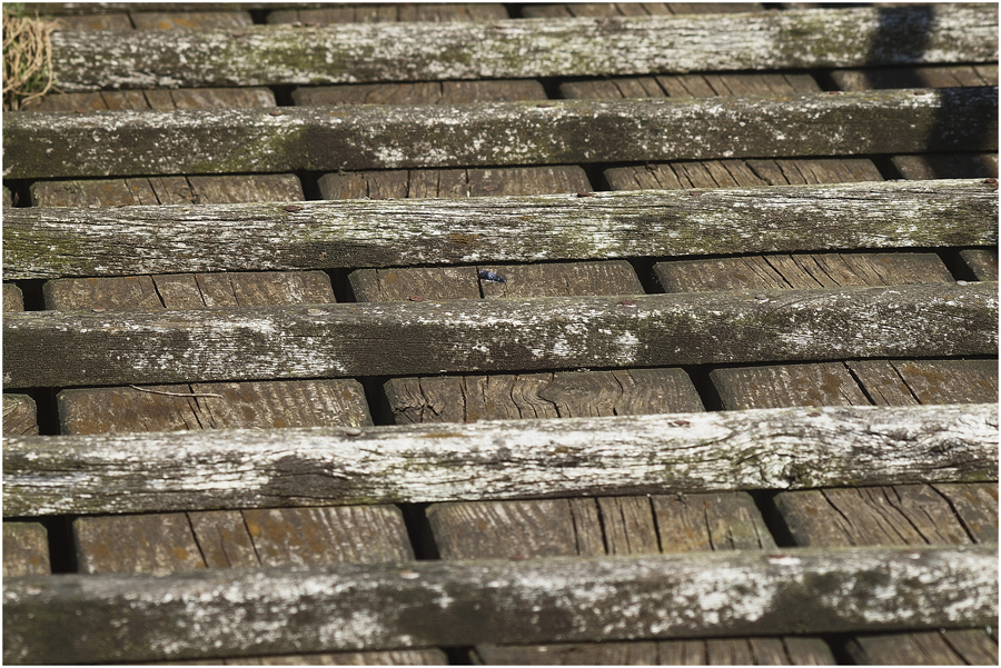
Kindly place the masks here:
[(92, 179), (38, 181), (31, 185), (33, 207), (208, 205), (300, 199), (303, 187), (293, 175)]

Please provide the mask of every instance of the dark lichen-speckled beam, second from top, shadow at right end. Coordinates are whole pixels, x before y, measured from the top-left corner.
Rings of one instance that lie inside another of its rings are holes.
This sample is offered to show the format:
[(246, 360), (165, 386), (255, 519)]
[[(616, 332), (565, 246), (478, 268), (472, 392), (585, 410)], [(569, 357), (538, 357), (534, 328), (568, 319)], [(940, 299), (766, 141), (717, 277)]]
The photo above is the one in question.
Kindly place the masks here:
[(454, 107), (3, 114), (6, 178), (496, 167), (997, 147), (997, 87)]

